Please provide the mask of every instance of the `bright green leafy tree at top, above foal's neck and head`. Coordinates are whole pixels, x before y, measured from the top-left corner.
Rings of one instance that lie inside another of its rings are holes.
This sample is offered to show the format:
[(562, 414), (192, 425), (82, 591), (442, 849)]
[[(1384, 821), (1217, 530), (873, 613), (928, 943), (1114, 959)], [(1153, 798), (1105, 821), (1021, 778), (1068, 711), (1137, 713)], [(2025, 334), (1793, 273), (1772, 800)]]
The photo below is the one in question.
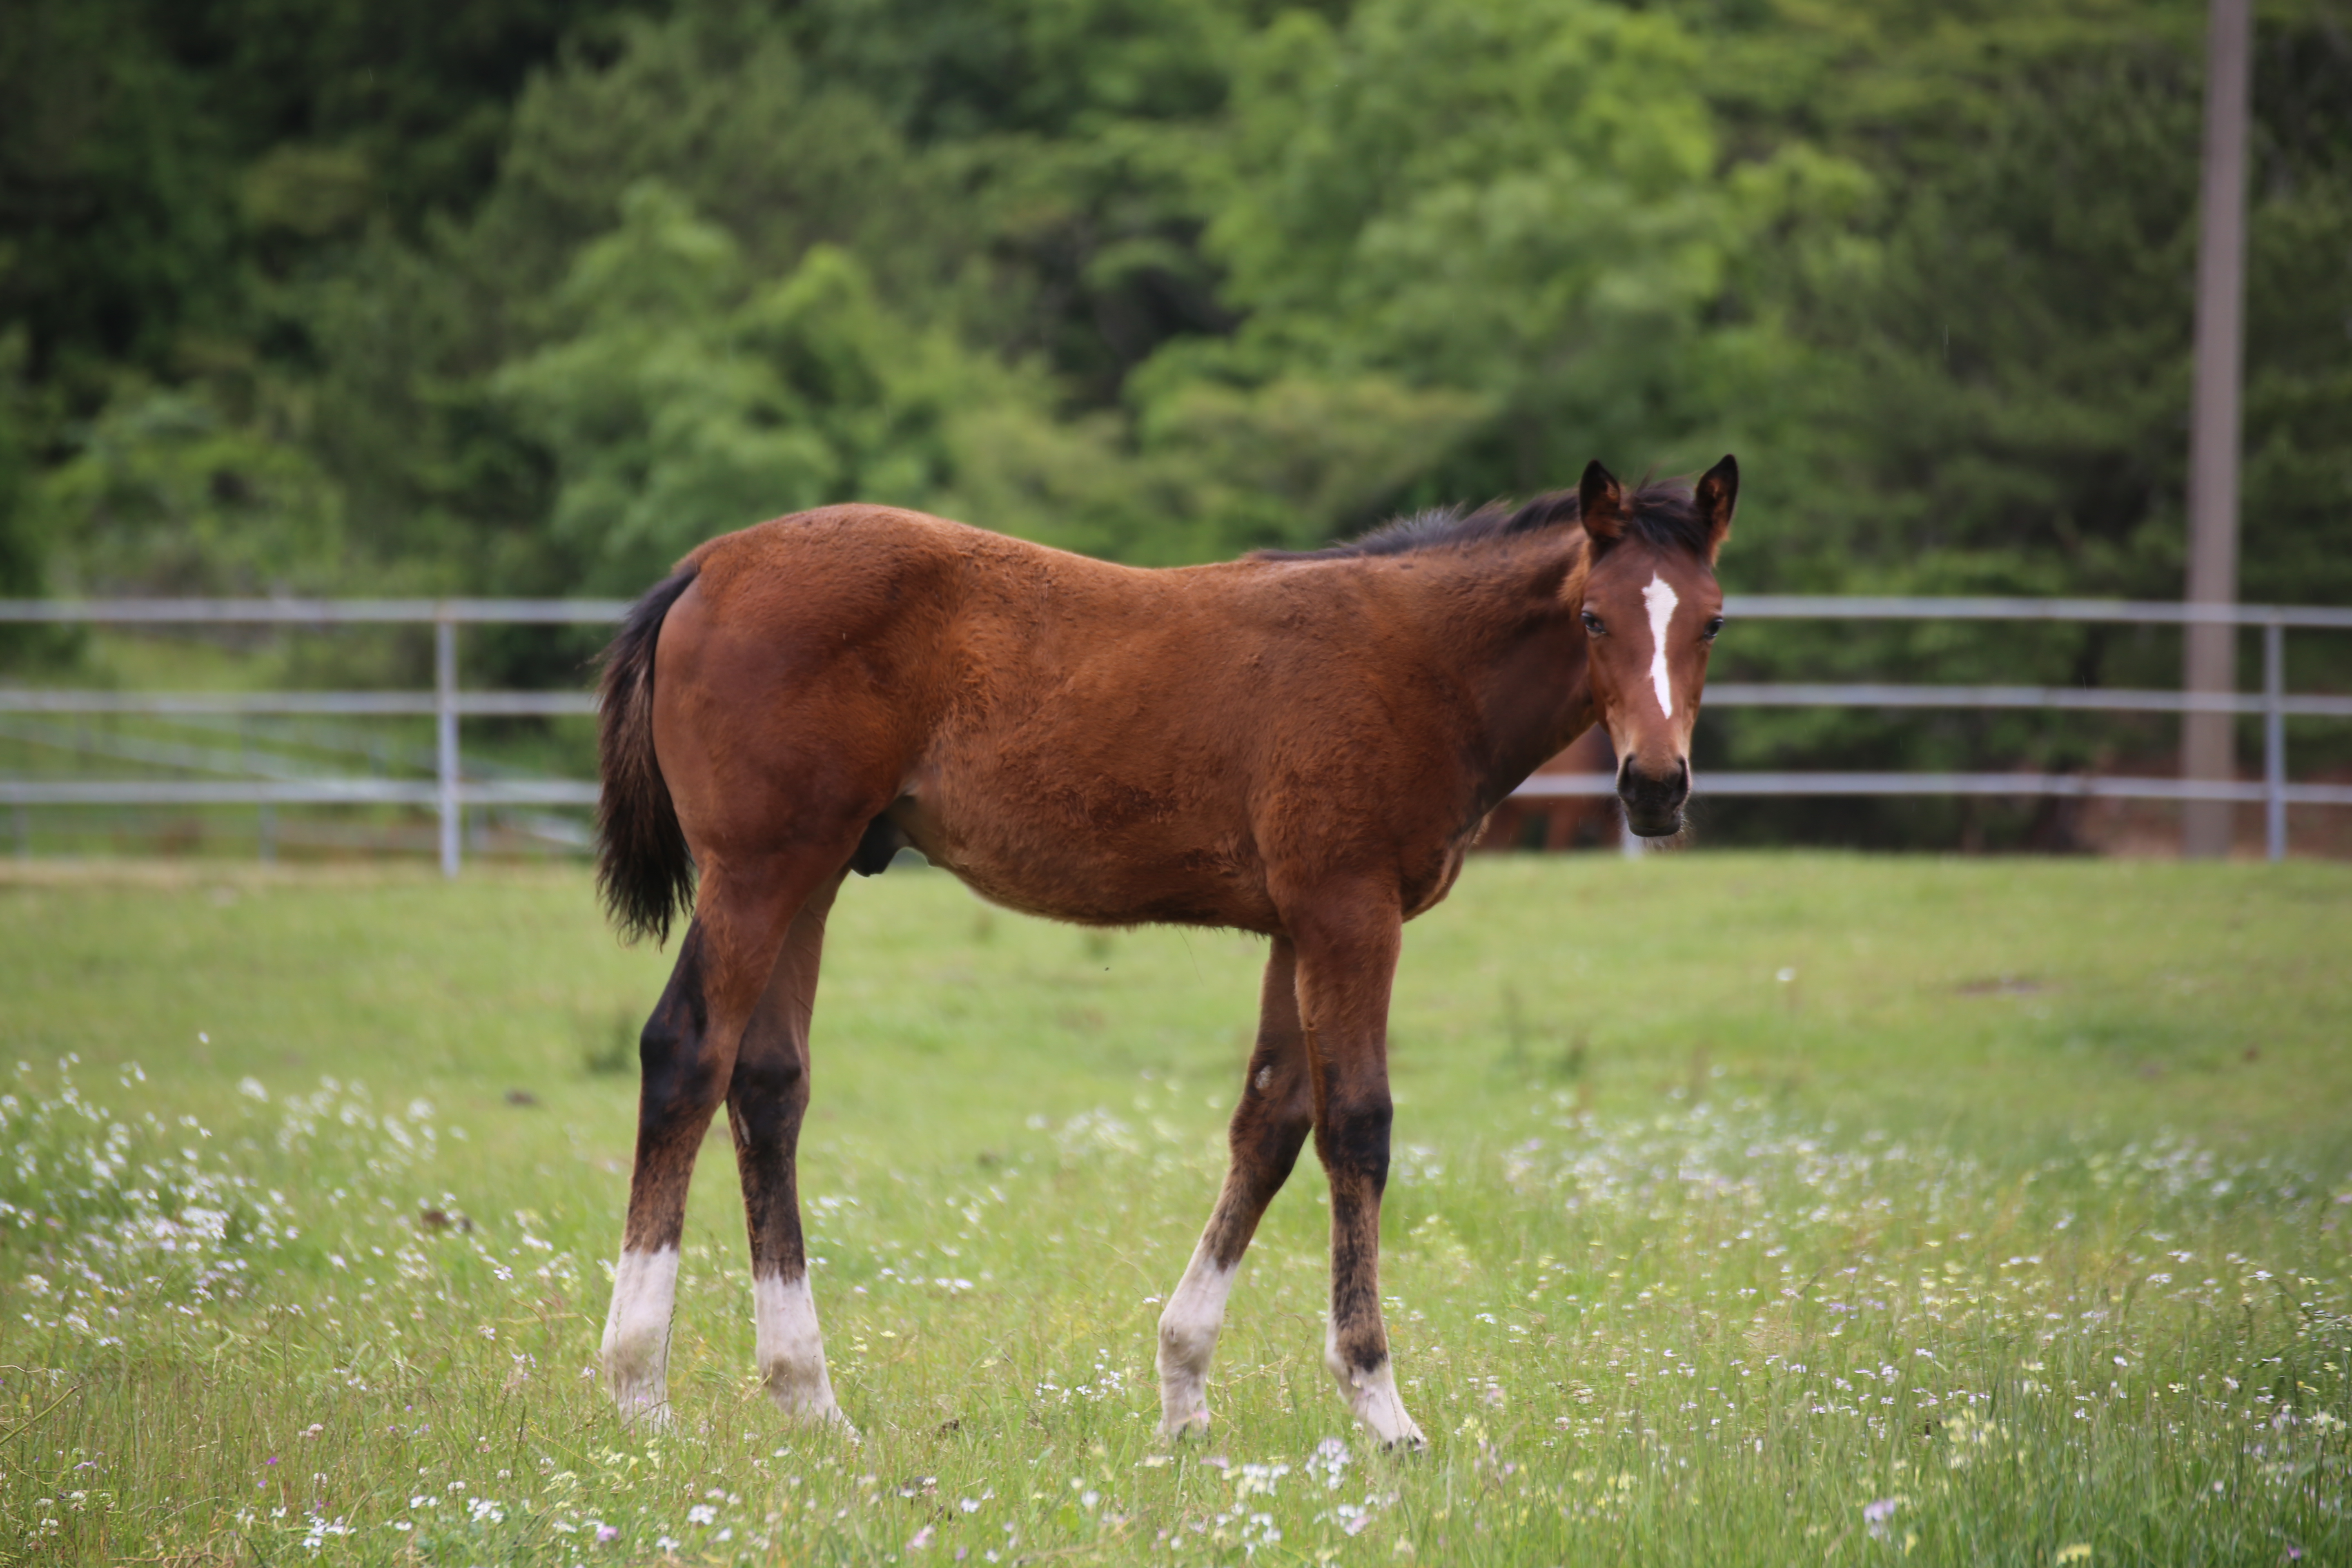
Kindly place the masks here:
[(1672, 16), (1602, 2), (1284, 14), (1204, 172), (1244, 324), (1143, 395), (1305, 371), (1477, 400), (1402, 487), (1425, 498), (1712, 461), (1771, 336), (1736, 259), (1788, 179), (1722, 176), (1698, 61)]

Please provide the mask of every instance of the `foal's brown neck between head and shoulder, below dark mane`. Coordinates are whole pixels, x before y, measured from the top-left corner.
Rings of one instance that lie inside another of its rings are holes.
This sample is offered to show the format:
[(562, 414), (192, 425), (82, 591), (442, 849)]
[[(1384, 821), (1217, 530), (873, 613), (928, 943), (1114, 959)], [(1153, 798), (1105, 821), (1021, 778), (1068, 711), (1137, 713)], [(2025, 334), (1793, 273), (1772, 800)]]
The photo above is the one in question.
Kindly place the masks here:
[(1465, 755), (1486, 806), (1592, 724), (1573, 607), (1581, 567), (1578, 531), (1550, 548), (1472, 550), (1446, 574), (1449, 623), (1435, 642), (1470, 696)]

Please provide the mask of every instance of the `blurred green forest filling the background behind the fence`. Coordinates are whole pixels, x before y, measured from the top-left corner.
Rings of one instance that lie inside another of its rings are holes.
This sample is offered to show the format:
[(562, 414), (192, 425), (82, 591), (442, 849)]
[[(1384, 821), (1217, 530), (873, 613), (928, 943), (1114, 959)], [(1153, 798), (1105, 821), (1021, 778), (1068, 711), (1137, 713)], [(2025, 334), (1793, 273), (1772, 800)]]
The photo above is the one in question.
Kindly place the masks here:
[[(844, 498), (1178, 564), (1738, 451), (1733, 590), (2178, 597), (2201, 45), (2197, 0), (12, 0), (0, 595), (633, 595)], [(2352, 5), (2258, 7), (2253, 113), (2241, 590), (2345, 604)], [(2178, 642), (1717, 670), (2166, 686)], [(1743, 710), (1700, 766), (2171, 743)]]

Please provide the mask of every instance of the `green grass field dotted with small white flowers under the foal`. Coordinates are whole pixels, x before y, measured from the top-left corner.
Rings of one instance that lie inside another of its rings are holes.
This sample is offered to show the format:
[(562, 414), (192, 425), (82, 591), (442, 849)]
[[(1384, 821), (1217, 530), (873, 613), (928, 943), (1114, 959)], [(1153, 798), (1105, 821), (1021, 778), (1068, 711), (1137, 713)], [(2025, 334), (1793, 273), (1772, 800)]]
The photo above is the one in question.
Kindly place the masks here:
[[(854, 884), (802, 1147), (863, 1443), (588, 1375), (663, 957), (576, 872), (0, 872), (0, 1561), (2352, 1561), (2352, 870), (1496, 858), (1406, 933), (1383, 1291), (1322, 1178), (1164, 1450), (1263, 945)], [(21, 1063), (14, 1072), (7, 1063)], [(447, 1220), (447, 1222), (437, 1222)]]

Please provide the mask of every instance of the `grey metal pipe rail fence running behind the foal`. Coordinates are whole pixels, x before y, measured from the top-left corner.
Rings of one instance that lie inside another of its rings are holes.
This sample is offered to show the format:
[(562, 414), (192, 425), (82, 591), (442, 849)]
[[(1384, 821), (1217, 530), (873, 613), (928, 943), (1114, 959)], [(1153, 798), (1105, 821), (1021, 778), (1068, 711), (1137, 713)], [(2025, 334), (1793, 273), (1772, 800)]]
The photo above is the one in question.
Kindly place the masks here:
[[(430, 717), (433, 778), (0, 778), (0, 804), (26, 806), (416, 806), (440, 827), (440, 865), (454, 877), (461, 825), (482, 806), (593, 806), (597, 785), (574, 778), (468, 778), (463, 719), (586, 717), (590, 691), (466, 691), (459, 686), (461, 625), (609, 625), (626, 599), (0, 599), (0, 623), (56, 625), (430, 625), (430, 691), (59, 691), (0, 686), (0, 712), (136, 717)], [(2260, 780), (2192, 780), (2100, 773), (1705, 773), (1708, 795), (1976, 795), (2263, 806), (2265, 849), (2286, 856), (2288, 806), (2352, 806), (2352, 785), (2286, 776), (2286, 719), (2352, 719), (2352, 696), (2286, 691), (2288, 630), (2352, 630), (2352, 609), (2284, 604), (2166, 604), (2124, 599), (1731, 595), (1738, 621), (2058, 621), (2143, 625), (2253, 625), (2263, 632), (2263, 689), (2190, 693), (2079, 686), (1933, 686), (1886, 682), (1717, 682), (1710, 708), (1980, 708), (2053, 712), (2230, 712), (2263, 719)], [(1606, 773), (1538, 773), (1517, 797), (1606, 797)]]

